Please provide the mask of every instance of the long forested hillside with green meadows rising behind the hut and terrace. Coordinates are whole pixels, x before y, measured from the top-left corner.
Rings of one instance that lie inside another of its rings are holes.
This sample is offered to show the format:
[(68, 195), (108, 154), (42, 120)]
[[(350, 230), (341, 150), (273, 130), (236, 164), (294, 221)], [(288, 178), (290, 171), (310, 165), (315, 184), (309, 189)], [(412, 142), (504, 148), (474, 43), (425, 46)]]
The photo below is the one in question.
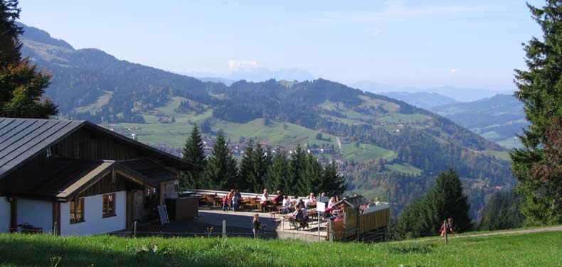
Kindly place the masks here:
[(139, 126), (141, 141), (172, 147), (181, 146), (191, 124), (200, 124), (204, 133), (220, 129), (232, 140), (257, 138), (270, 146), (332, 145), (330, 157), (354, 166), (347, 174), (349, 189), (376, 190), (400, 197), (402, 204), (430, 185), (425, 178), (450, 167), (467, 187), (513, 185), (503, 148), (396, 99), (322, 79), (201, 82), (101, 50), (75, 50), (37, 28), (24, 30), (22, 53), (53, 74), (46, 94), (60, 116), (116, 129)]

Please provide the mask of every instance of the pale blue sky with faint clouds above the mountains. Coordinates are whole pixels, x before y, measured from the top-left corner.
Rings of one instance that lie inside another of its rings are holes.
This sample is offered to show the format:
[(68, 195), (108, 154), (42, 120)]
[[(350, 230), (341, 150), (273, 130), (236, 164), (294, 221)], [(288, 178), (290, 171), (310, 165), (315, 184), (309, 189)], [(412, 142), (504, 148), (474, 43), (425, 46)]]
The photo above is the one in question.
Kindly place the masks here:
[[(542, 5), (543, 1), (529, 1)], [(182, 73), (298, 67), (339, 82), (515, 89), (524, 1), (20, 0), (21, 22), (75, 48)]]

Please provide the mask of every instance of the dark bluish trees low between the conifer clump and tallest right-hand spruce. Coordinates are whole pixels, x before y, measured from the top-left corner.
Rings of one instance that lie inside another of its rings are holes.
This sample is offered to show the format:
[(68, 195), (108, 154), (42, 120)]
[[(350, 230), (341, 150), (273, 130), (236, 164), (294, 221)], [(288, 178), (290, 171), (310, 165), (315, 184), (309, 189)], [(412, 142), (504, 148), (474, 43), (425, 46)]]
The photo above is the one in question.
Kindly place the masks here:
[(494, 231), (521, 227), (525, 219), (519, 211), (521, 200), (515, 192), (497, 192), (492, 195), (484, 206), (478, 229)]

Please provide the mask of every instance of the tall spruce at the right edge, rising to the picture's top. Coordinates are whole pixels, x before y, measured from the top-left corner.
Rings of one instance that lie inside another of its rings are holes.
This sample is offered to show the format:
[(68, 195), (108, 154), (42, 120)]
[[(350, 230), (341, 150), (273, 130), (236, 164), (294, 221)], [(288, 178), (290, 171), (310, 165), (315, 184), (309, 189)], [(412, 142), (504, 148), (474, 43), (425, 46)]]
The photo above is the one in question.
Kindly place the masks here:
[(525, 224), (562, 224), (562, 159), (552, 162), (546, 153), (548, 147), (561, 147), (556, 148), (551, 140), (556, 134), (549, 132), (559, 132), (552, 125), (562, 120), (562, 1), (528, 6), (543, 36), (524, 45), (528, 70), (515, 70), (515, 97), (524, 103), (531, 125), (519, 137), (524, 148), (515, 149), (511, 160), (519, 181), (516, 190), (526, 197), (521, 205)]

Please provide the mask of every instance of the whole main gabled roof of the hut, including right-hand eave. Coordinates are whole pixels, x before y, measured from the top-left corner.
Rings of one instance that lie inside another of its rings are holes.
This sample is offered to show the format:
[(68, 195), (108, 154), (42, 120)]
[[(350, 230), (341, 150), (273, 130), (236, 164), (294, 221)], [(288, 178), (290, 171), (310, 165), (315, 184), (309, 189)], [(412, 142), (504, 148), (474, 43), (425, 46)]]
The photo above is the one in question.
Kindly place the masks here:
[[(193, 163), (139, 143), (97, 126), (88, 121), (69, 121), (53, 119), (8, 119), (0, 118), (0, 179), (11, 170), (26, 163), (38, 153), (46, 151), (54, 143), (62, 140), (82, 127), (117, 138), (129, 146), (149, 151), (151, 156), (173, 163), (181, 170), (200, 168)], [(110, 159), (110, 158), (107, 158)]]

